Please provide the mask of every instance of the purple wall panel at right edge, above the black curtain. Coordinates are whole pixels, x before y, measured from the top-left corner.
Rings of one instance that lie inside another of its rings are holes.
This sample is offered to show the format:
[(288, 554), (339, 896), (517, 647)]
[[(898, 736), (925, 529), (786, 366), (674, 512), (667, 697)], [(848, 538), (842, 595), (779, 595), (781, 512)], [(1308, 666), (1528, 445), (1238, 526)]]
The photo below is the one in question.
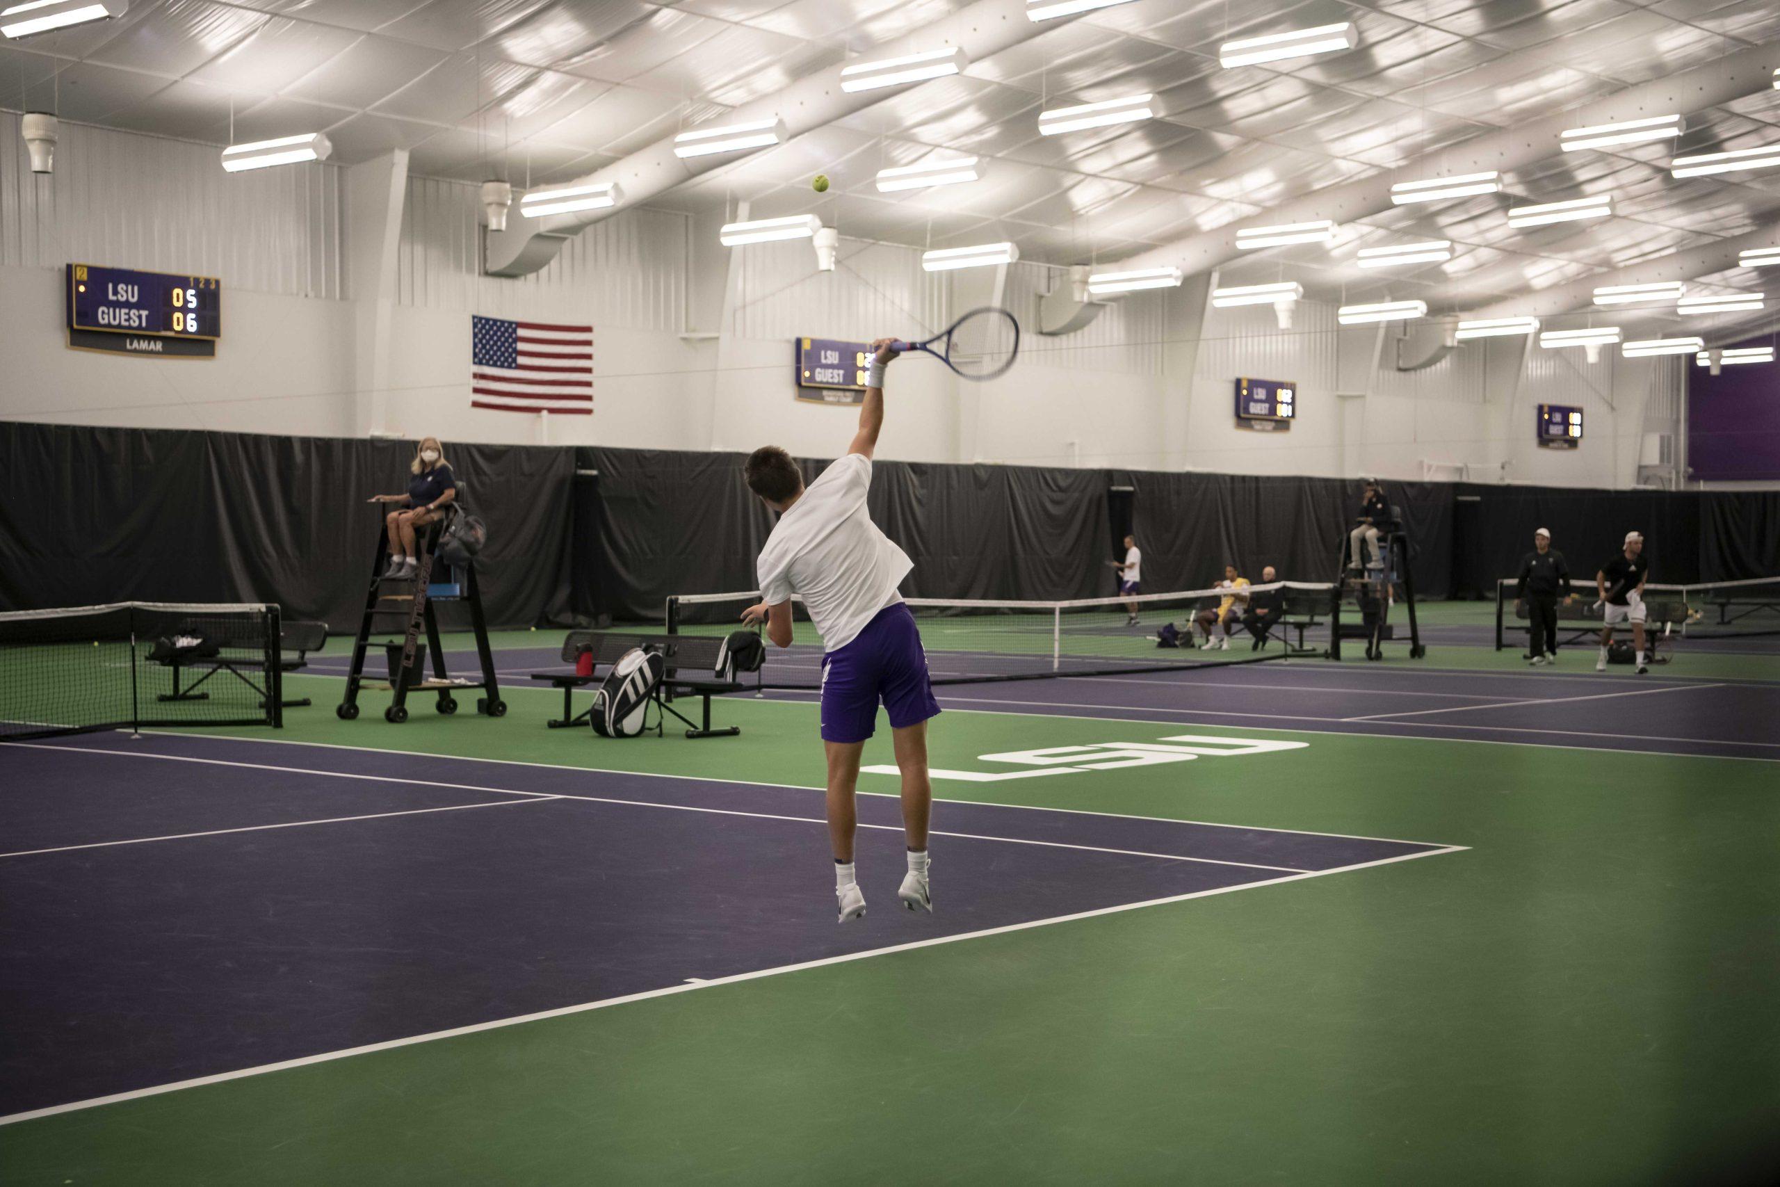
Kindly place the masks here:
[[(1752, 338), (1741, 347), (1771, 345)], [(1695, 479), (1780, 479), (1780, 363), (1687, 368), (1687, 466)]]

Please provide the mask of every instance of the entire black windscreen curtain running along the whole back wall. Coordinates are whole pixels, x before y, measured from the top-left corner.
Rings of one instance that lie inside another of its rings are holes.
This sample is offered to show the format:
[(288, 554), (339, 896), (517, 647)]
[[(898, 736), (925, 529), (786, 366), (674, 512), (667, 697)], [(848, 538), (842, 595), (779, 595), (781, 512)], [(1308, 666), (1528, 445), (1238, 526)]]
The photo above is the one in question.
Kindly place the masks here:
[[(452, 445), (466, 505), (488, 521), (479, 568), (495, 625), (659, 619), (675, 593), (755, 587), (773, 516), (740, 454)], [(237, 432), (0, 424), (0, 609), (101, 602), (278, 602), (352, 630), (381, 529), (365, 500), (406, 489), (413, 445)], [(803, 461), (813, 479), (826, 461)], [(1340, 479), (1045, 470), (879, 461), (872, 518), (931, 598), (1114, 593), (1111, 486), (1132, 486), (1148, 591), (1196, 589), (1226, 562), (1251, 580), (1331, 580), (1360, 504)], [(1412, 539), (1417, 594), (1488, 593), (1533, 530), (1575, 573), (1627, 530), (1652, 580), (1780, 575), (1780, 491), (1591, 491), (1387, 482)], [(1463, 514), (1454, 518), (1454, 500)], [(1472, 585), (1472, 582), (1476, 582)], [(463, 607), (445, 607), (449, 625)]]

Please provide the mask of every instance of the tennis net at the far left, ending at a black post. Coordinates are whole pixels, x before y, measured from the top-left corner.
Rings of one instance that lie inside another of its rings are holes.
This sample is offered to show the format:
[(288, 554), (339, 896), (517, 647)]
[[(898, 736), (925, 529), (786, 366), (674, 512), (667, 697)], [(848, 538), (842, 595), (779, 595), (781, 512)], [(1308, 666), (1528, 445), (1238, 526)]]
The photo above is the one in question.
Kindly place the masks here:
[(0, 614), (0, 740), (281, 724), (276, 605), (121, 602)]

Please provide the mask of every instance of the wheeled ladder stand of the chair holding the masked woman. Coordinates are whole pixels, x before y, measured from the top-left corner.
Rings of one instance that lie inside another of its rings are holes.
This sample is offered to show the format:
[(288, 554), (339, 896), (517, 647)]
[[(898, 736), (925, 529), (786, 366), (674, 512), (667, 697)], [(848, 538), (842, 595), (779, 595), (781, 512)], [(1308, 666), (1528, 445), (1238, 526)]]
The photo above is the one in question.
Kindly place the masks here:
[[(456, 514), (456, 513), (450, 513)], [(393, 628), (402, 625), (400, 664), (390, 674), (390, 682), (372, 682), (370, 687), (390, 689), (390, 707), (383, 710), (383, 719), (390, 724), (408, 721), (409, 692), (438, 692), (434, 708), (441, 714), (456, 714), (457, 699), (452, 692), (479, 689), (475, 712), (488, 717), (506, 717), (507, 703), (500, 699), (500, 683), (495, 680), (495, 653), (488, 646), (488, 621), (482, 618), (482, 593), (475, 580), (475, 564), (463, 569), (447, 571), (445, 582), (433, 580), (433, 561), (440, 532), (449, 520), (433, 523), (420, 541), (420, 564), (413, 577), (384, 580), (383, 569), (390, 562), (390, 545), (386, 532), (377, 532), (377, 553), (370, 566), (370, 587), (365, 593), (365, 614), (358, 623), (358, 637), (352, 641), (352, 669), (345, 678), (345, 698), (335, 707), (342, 721), (358, 717), (358, 694), (365, 687), (365, 655), (370, 651), (370, 637), (377, 634), (379, 623)], [(384, 593), (384, 587), (406, 589), (406, 593)], [(470, 628), (475, 632), (475, 653), (481, 660), (481, 680), (452, 680), (445, 671), (445, 648), (440, 642), (438, 614), (434, 602), (466, 602), (470, 605)], [(433, 653), (433, 678), (427, 680), (415, 664), (415, 651), (420, 646), (420, 632), (425, 630), (427, 650)], [(390, 644), (393, 646), (393, 644)]]

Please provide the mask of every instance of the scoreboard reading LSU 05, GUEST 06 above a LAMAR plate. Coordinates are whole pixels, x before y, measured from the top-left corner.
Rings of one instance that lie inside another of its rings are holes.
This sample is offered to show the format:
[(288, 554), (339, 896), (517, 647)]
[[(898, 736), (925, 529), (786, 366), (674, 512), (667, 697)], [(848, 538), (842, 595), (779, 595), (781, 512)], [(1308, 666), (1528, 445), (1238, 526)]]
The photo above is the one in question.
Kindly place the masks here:
[(80, 351), (214, 358), (222, 336), (222, 281), (68, 265), (68, 345)]

